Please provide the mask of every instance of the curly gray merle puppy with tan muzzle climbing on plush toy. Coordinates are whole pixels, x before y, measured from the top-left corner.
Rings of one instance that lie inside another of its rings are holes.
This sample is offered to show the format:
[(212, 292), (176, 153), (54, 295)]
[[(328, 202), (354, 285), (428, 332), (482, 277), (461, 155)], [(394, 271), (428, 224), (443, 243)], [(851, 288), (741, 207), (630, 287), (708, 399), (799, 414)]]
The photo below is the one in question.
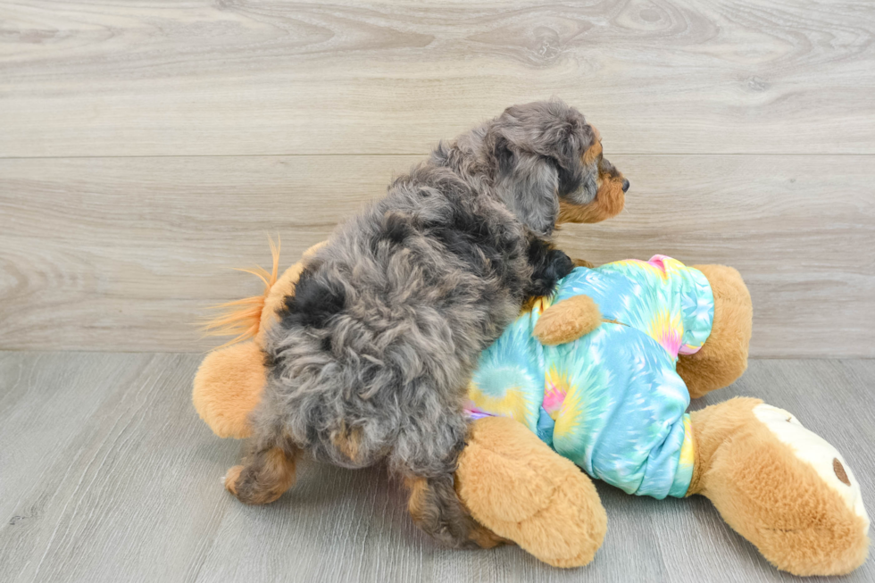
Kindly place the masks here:
[(267, 341), (267, 387), (228, 489), (275, 500), (303, 451), (349, 468), (385, 460), (421, 529), (492, 544), (454, 491), (471, 371), (571, 271), (549, 240), (557, 222), (612, 216), (628, 187), (561, 101), (510, 107), (438, 145), (307, 263)]

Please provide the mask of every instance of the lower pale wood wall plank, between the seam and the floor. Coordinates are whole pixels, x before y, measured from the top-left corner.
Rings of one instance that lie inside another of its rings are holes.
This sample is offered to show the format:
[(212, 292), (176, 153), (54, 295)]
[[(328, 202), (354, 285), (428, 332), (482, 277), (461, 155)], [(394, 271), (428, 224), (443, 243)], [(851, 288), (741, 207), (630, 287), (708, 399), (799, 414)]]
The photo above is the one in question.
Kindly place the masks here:
[[(419, 156), (0, 161), (0, 347), (199, 351), (207, 306), (260, 291)], [(756, 356), (875, 356), (868, 156), (612, 156), (627, 211), (559, 242), (596, 263), (737, 267)], [(827, 169), (827, 171), (824, 171)], [(830, 170), (831, 169), (831, 170)]]

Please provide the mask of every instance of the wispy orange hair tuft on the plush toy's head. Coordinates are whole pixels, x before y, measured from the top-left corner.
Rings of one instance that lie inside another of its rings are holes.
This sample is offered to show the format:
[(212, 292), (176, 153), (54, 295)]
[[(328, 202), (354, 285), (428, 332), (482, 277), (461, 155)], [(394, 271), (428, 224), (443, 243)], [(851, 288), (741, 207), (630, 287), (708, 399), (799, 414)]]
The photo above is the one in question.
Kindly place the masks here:
[(252, 273), (256, 278), (264, 282), (262, 295), (245, 297), (242, 300), (211, 306), (211, 309), (217, 310), (218, 313), (214, 318), (205, 321), (201, 326), (204, 337), (233, 336), (228, 342), (221, 346), (216, 346), (213, 350), (243, 342), (258, 334), (262, 321), (264, 300), (271, 293), (271, 287), (277, 282), (279, 273), (279, 237), (277, 238), (277, 243), (274, 243), (272, 238), (269, 240), (271, 243), (271, 256), (273, 258), (271, 271), (267, 271), (258, 265), (251, 270), (237, 269), (237, 271)]

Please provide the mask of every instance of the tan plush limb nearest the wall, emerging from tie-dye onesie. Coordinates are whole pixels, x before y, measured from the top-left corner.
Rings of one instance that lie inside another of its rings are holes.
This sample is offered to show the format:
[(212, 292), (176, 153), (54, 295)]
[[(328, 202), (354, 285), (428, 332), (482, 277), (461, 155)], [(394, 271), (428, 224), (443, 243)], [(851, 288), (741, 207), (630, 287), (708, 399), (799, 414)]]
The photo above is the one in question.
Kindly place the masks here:
[(695, 354), (681, 354), (678, 374), (694, 399), (728, 387), (747, 369), (754, 309), (738, 271), (725, 265), (694, 265), (714, 295), (711, 335)]

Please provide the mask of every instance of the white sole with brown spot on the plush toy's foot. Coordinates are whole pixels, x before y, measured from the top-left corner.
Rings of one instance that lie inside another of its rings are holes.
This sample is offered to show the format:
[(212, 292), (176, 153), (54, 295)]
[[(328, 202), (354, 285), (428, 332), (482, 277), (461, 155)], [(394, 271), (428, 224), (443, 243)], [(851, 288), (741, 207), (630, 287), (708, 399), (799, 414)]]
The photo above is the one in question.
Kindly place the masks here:
[(754, 415), (779, 441), (793, 450), (796, 458), (808, 463), (823, 483), (835, 490), (847, 507), (859, 516), (869, 533), (870, 520), (862, 504), (860, 482), (854, 478), (845, 458), (823, 437), (805, 429), (796, 417), (770, 404), (758, 404)]

